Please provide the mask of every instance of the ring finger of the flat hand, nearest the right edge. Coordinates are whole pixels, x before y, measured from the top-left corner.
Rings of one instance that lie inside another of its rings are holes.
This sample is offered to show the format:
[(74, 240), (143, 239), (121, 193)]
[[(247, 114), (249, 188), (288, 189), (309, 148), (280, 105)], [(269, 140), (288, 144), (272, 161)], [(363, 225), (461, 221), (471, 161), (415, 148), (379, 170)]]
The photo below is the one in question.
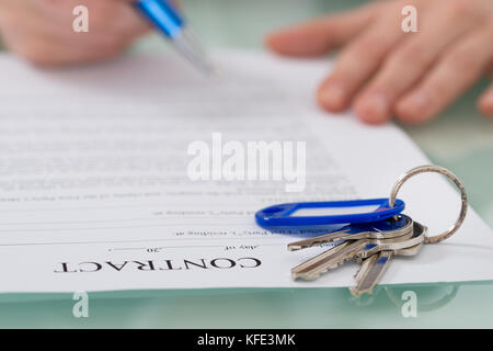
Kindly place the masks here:
[(469, 34), (449, 48), (426, 78), (395, 106), (399, 118), (408, 123), (428, 121), (484, 72), (493, 56), (493, 26)]

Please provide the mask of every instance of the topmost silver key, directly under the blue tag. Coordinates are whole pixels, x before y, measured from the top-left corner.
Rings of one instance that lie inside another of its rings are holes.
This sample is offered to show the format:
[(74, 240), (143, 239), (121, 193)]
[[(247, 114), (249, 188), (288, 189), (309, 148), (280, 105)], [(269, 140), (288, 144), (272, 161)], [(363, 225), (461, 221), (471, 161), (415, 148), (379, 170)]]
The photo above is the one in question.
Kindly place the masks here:
[(410, 234), (413, 220), (406, 215), (399, 215), (398, 219), (388, 218), (376, 223), (360, 223), (344, 226), (340, 230), (299, 240), (288, 245), (289, 251), (301, 250), (313, 246), (339, 240), (357, 239), (388, 239)]

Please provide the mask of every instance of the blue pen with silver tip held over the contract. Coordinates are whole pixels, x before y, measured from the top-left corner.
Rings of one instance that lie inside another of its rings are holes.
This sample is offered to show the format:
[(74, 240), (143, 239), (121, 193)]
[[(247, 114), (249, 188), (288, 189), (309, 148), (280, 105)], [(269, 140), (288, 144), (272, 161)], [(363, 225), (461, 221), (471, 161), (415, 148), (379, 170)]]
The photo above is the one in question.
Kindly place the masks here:
[(138, 0), (135, 7), (158, 30), (160, 30), (174, 47), (196, 68), (211, 75), (214, 67), (207, 58), (200, 43), (196, 39), (186, 21), (176, 8), (165, 0)]

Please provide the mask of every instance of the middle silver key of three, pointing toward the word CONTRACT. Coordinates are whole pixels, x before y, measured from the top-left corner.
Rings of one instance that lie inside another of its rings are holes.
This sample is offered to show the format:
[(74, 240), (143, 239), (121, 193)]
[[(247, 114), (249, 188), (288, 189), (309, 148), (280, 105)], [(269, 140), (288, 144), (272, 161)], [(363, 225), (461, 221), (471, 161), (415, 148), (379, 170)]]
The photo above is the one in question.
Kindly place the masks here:
[[(293, 268), (291, 276), (295, 280), (298, 278), (313, 280), (320, 274), (325, 273), (326, 271), (334, 269), (344, 262), (360, 258), (362, 254), (365, 254), (365, 251), (368, 250), (372, 250), (372, 252), (383, 250), (397, 251), (414, 247), (424, 240), (425, 231), (421, 230), (422, 227), (423, 226), (421, 225), (417, 227), (413, 225), (413, 228), (416, 228), (415, 230), (398, 238), (344, 241), (343, 244)], [(370, 248), (368, 248), (368, 246), (370, 246)]]

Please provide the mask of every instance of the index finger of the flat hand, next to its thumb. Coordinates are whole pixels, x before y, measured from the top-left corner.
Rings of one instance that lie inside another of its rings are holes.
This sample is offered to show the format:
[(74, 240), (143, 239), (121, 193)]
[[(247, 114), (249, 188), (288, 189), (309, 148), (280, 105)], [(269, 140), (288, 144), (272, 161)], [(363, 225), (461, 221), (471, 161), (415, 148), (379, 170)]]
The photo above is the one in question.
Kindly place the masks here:
[[(392, 7), (398, 11), (395, 5)], [(359, 87), (403, 37), (400, 18), (395, 13), (389, 11), (380, 15), (374, 25), (343, 49), (333, 72), (319, 87), (318, 100), (323, 109), (331, 112), (345, 110)], [(375, 103), (382, 104), (381, 101)]]

